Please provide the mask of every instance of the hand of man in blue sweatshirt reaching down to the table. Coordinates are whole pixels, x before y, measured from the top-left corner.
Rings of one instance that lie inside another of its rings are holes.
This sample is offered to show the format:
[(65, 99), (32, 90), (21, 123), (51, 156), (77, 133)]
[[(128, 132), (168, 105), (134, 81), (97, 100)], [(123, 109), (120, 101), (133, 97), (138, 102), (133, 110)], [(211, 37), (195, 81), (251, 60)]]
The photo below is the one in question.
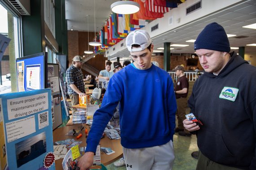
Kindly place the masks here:
[(93, 152), (86, 152), (84, 156), (82, 156), (77, 163), (77, 166), (80, 170), (90, 170), (93, 166)]

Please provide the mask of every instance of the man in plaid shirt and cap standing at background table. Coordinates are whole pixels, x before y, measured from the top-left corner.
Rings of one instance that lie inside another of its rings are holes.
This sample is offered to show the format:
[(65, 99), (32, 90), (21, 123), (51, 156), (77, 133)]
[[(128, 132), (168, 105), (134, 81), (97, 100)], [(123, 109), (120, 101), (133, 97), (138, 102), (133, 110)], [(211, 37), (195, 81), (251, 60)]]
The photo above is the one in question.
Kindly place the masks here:
[[(66, 70), (67, 93), (71, 98), (72, 106), (79, 104), (79, 96), (85, 95), (84, 75), (81, 70), (83, 58), (76, 55), (71, 66)], [(72, 114), (76, 111), (72, 108)]]

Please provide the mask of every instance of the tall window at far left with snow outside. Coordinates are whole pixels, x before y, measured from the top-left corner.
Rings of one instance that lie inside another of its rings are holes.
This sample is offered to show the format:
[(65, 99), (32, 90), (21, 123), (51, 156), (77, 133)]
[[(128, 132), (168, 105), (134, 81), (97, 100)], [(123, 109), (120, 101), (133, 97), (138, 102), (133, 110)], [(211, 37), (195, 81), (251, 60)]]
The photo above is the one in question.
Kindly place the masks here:
[(0, 34), (11, 39), (0, 61), (0, 93), (17, 92), (15, 59), (21, 56), (20, 17), (0, 2)]

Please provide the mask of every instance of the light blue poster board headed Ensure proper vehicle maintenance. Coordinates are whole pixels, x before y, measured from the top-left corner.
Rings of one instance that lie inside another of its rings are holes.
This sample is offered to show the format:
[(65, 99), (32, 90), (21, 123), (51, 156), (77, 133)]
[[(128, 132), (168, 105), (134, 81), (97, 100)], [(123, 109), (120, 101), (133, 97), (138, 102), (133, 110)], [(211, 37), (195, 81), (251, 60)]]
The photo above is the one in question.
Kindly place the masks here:
[(1, 94), (0, 117), (9, 170), (55, 170), (51, 89)]

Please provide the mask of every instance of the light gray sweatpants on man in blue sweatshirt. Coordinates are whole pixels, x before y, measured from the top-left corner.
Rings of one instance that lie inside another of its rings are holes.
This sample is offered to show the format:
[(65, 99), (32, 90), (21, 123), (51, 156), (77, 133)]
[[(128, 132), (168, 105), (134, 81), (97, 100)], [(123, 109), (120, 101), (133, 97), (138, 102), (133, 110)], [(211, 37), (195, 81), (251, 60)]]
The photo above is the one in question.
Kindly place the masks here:
[(123, 147), (123, 153), (127, 170), (172, 170), (175, 158), (172, 140), (149, 148)]

